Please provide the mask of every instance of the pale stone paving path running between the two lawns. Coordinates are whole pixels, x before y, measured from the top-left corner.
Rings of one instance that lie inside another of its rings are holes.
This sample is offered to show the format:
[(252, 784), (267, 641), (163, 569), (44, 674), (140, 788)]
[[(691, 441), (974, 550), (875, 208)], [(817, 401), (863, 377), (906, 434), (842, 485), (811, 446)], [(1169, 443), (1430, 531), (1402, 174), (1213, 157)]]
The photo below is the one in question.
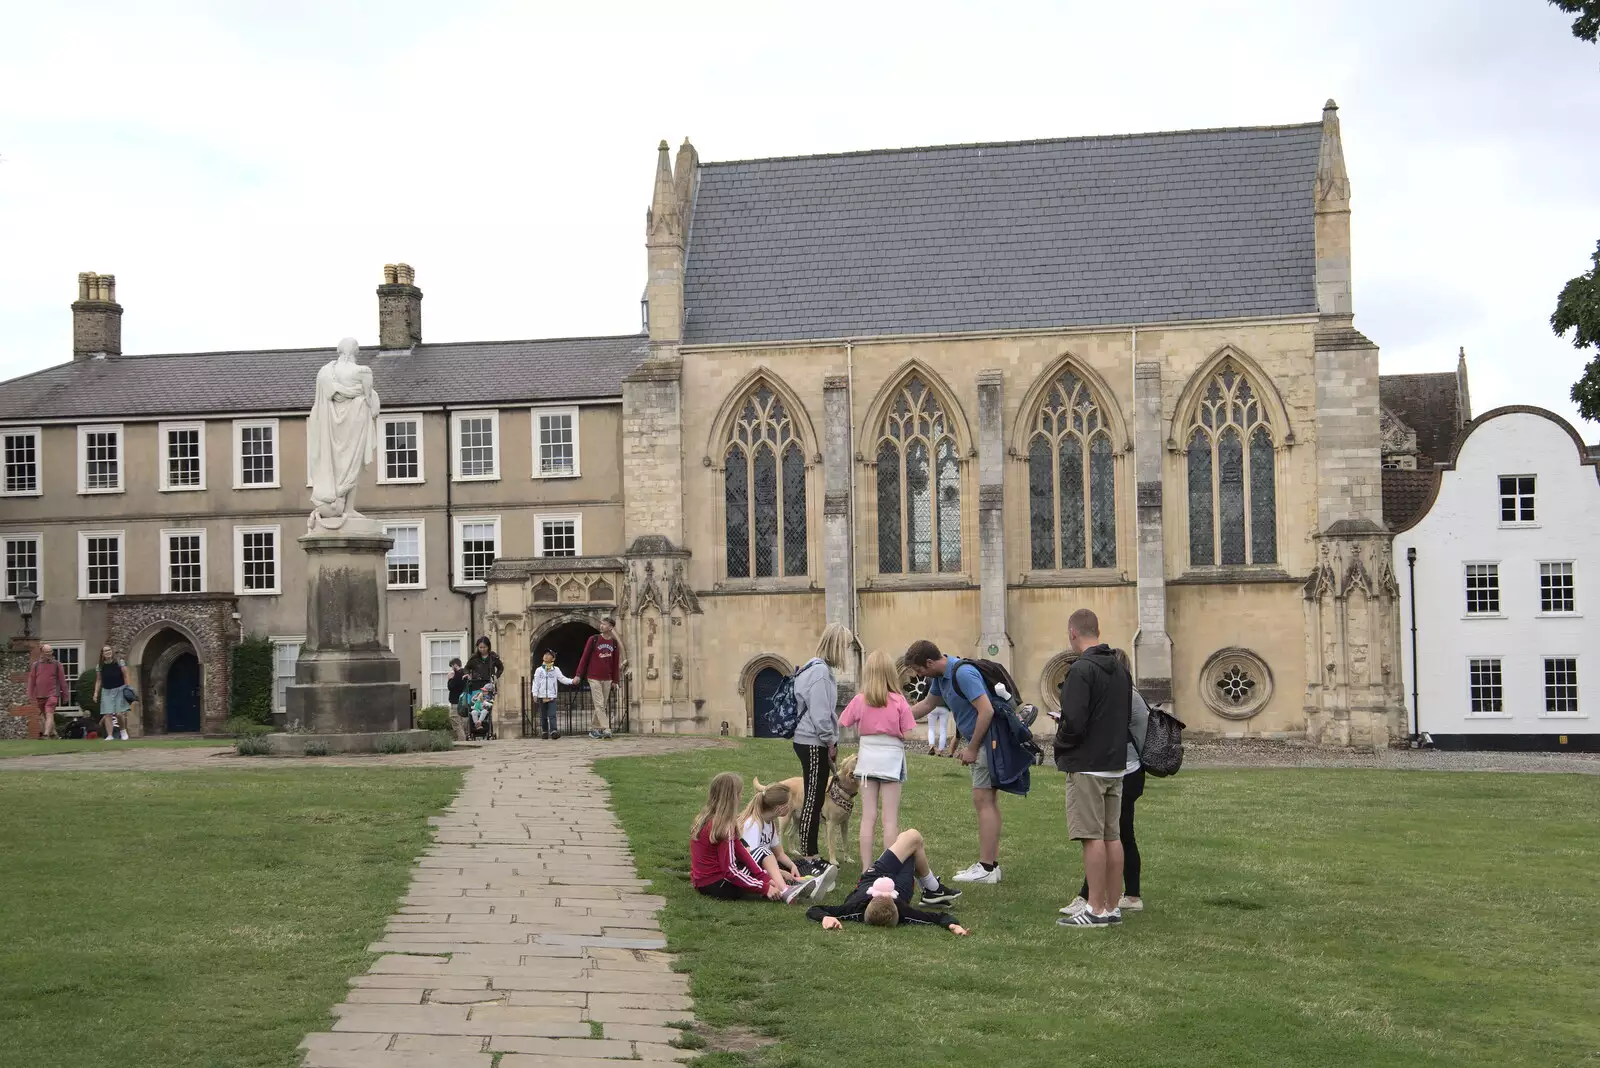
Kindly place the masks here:
[(382, 953), (350, 980), (306, 1068), (595, 1068), (691, 1054), (693, 1020), (634, 870), (595, 755), (666, 753), (710, 739), (501, 742), (478, 750), (438, 817)]

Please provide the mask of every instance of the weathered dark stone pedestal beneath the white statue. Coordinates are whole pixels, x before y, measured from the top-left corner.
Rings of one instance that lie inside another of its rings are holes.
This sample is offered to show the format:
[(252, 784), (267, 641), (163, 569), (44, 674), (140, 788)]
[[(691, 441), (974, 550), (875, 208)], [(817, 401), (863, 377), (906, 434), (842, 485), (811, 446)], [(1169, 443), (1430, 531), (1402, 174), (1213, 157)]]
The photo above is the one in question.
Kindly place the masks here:
[(306, 644), (285, 687), (290, 727), (370, 734), (411, 726), (411, 687), (389, 651), (394, 540), (376, 523), (299, 539), (306, 550)]

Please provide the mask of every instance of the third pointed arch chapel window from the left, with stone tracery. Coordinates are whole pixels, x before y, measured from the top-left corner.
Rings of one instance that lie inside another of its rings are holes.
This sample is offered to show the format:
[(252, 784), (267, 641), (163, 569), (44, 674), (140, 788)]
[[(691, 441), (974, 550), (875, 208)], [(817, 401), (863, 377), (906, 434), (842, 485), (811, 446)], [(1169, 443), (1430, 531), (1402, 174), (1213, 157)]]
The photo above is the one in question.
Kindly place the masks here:
[(1115, 568), (1115, 489), (1106, 411), (1083, 379), (1062, 371), (1045, 392), (1027, 444), (1034, 568)]

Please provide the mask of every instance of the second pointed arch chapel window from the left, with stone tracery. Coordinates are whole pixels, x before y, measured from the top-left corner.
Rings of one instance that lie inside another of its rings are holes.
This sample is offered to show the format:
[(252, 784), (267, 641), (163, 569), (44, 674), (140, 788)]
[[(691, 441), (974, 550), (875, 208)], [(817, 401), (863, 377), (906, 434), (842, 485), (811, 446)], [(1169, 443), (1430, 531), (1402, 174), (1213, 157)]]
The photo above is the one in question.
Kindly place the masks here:
[(960, 457), (944, 406), (922, 377), (909, 377), (890, 401), (877, 460), (878, 571), (960, 571)]

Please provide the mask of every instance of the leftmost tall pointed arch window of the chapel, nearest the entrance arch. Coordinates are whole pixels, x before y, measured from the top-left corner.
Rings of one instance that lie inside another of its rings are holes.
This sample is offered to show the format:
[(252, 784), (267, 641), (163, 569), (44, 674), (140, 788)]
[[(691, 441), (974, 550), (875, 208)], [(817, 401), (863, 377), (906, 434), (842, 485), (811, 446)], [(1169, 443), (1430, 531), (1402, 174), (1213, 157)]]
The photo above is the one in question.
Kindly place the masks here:
[(723, 508), (730, 579), (806, 574), (805, 449), (766, 384), (750, 390), (728, 432)]

